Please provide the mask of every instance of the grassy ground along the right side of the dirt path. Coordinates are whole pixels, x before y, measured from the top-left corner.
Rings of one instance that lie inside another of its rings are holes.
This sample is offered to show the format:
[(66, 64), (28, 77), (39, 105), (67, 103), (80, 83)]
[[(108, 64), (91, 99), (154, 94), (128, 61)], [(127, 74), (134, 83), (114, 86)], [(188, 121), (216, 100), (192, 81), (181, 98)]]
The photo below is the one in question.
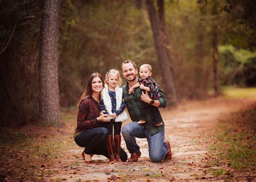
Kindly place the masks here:
[[(218, 158), (212, 163), (225, 163), (233, 169), (250, 171), (256, 167), (256, 104), (245, 111), (233, 113), (220, 121), (215, 131), (215, 142), (211, 151)], [(214, 171), (219, 175), (221, 171)]]

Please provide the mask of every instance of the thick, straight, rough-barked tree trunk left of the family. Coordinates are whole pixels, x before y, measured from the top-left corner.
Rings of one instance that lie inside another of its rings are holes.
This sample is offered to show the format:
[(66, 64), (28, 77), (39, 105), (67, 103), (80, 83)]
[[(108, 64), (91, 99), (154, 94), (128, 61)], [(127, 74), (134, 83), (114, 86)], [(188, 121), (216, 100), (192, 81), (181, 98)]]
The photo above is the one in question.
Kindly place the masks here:
[(39, 121), (60, 127), (58, 40), (60, 0), (45, 0), (39, 54)]

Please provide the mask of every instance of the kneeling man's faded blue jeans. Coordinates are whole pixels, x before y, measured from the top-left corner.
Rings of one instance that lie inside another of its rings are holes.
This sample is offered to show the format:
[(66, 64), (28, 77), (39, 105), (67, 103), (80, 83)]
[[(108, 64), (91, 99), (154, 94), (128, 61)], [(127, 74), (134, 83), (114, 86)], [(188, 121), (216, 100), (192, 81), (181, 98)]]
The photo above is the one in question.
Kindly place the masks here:
[(152, 162), (161, 162), (168, 152), (168, 145), (164, 142), (164, 129), (150, 136), (142, 125), (137, 122), (131, 122), (123, 127), (122, 134), (130, 153), (139, 152), (139, 145), (136, 143), (136, 138), (146, 138), (149, 144), (149, 156)]

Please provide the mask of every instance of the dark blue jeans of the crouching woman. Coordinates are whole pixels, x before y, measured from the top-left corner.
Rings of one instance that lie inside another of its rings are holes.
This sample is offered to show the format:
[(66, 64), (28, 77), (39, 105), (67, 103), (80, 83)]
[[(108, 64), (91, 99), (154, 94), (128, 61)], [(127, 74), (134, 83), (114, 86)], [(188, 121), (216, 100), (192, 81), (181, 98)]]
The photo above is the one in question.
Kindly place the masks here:
[[(92, 128), (83, 131), (75, 137), (75, 142), (78, 146), (85, 147), (84, 153), (103, 155), (109, 158), (109, 152), (107, 152), (106, 138), (109, 134), (109, 130), (106, 128)], [(127, 160), (127, 153), (121, 148), (120, 158), (122, 161)]]

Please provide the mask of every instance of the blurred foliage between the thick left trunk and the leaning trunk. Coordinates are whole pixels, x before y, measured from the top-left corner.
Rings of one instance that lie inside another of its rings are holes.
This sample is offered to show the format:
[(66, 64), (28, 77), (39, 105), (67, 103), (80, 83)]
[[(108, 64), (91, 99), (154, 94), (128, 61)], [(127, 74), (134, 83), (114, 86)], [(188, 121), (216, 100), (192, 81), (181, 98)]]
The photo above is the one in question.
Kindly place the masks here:
[(59, 71), (60, 99), (65, 101), (62, 106), (77, 102), (91, 73), (99, 72), (104, 76), (110, 68), (120, 69), (127, 59), (138, 65), (146, 60), (152, 64), (155, 78), (158, 78), (158, 65), (155, 59), (152, 60), (156, 58), (153, 39), (145, 13), (133, 2), (74, 4), (62, 1)]

